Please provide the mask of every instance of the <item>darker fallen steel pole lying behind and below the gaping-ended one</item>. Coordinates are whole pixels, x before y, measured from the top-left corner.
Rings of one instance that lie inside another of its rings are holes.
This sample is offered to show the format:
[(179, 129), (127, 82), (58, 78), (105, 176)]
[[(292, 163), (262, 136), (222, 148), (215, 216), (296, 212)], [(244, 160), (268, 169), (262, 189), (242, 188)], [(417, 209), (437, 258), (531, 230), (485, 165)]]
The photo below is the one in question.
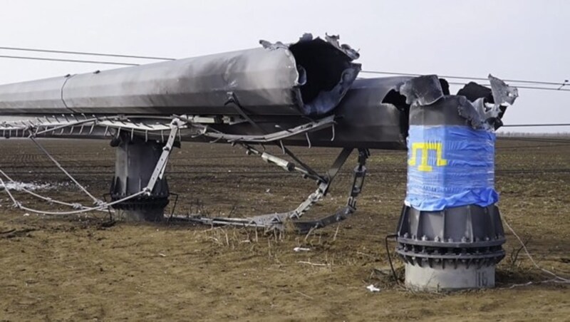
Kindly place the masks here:
[[(334, 127), (327, 127), (314, 132), (287, 137), (283, 140), (286, 145), (309, 146), (312, 147), (354, 147), (363, 149), (389, 149), (404, 150), (405, 137), (408, 134), (408, 110), (409, 105), (405, 103), (405, 98), (398, 93), (398, 88), (409, 77), (386, 77), (386, 78), (362, 78), (354, 81), (348, 89), (343, 100), (331, 112), (335, 118)], [(22, 96), (24, 97), (24, 96)], [(46, 121), (46, 116), (53, 124)], [(170, 116), (170, 115), (168, 115)], [(7, 123), (21, 126), (22, 122), (28, 125), (38, 126), (43, 124), (42, 130), (46, 126), (53, 127), (58, 123), (57, 119), (83, 120), (83, 115), (56, 115), (54, 118), (50, 114), (21, 114), (1, 116)], [(88, 117), (89, 118), (89, 117)], [(252, 126), (249, 122), (224, 124), (211, 123), (209, 128), (218, 130), (221, 133), (231, 135), (266, 135), (277, 130), (294, 128), (304, 125), (310, 120), (299, 117), (299, 115), (251, 115), (257, 126)], [(318, 118), (314, 118), (318, 119)], [(144, 124), (155, 124), (157, 119), (152, 115), (140, 118), (127, 118), (127, 122), (139, 122)], [(165, 120), (158, 120), (165, 122)], [(0, 121), (0, 128), (4, 122)], [(279, 125), (279, 128), (276, 128)], [(41, 137), (52, 138), (100, 138), (108, 139), (105, 133), (105, 126), (95, 126), (93, 129), (76, 126), (66, 128), (64, 132), (48, 131), (41, 134)], [(6, 127), (4, 127), (6, 128)], [(15, 131), (0, 130), (0, 135), (16, 137)], [(19, 135), (24, 135), (20, 130)], [(160, 133), (144, 133), (135, 130), (135, 136), (149, 137), (150, 139), (161, 140)], [(214, 139), (197, 135), (195, 129), (181, 129), (180, 139), (182, 141), (209, 142)], [(224, 142), (220, 140), (219, 142)], [(309, 143), (310, 142), (310, 143)]]

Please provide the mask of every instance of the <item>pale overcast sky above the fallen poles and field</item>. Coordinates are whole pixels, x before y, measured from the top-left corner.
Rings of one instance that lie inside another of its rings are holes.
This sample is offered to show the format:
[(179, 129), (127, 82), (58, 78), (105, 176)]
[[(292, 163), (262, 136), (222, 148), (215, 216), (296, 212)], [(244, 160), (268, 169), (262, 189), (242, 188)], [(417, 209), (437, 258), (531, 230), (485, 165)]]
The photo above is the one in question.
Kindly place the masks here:
[[(305, 32), (329, 33), (360, 49), (364, 70), (477, 77), (492, 73), (499, 78), (556, 82), (570, 78), (570, 1), (564, 0), (2, 0), (1, 4), (0, 46), (186, 58), (256, 47), (259, 39), (291, 42)], [(0, 55), (53, 57), (16, 51)], [(116, 67), (0, 58), (0, 83), (108, 68)], [(505, 123), (570, 123), (570, 92), (520, 89), (519, 94)]]

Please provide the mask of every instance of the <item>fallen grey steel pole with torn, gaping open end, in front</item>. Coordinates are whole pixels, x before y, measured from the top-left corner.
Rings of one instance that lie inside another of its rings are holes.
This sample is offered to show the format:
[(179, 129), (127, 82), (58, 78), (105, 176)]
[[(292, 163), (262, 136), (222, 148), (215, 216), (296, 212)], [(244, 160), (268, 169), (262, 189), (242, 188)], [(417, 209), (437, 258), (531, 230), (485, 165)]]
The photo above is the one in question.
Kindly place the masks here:
[(290, 45), (262, 44), (264, 48), (0, 85), (0, 115), (318, 115), (338, 105), (360, 71), (352, 63), (358, 53), (340, 46), (336, 37), (309, 35)]

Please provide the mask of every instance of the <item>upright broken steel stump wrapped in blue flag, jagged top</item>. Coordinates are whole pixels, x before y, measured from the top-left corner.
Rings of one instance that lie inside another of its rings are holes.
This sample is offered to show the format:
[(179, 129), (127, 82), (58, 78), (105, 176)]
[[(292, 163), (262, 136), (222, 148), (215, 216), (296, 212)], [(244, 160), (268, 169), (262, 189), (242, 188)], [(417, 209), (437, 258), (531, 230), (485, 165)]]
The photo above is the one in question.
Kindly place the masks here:
[(445, 95), (436, 76), (400, 88), (411, 105), (397, 251), (411, 289), (494, 286), (505, 241), (495, 205), (494, 130), (502, 124), (502, 104), (513, 103), (517, 90), (489, 81), (492, 89), (473, 84), (458, 95)]

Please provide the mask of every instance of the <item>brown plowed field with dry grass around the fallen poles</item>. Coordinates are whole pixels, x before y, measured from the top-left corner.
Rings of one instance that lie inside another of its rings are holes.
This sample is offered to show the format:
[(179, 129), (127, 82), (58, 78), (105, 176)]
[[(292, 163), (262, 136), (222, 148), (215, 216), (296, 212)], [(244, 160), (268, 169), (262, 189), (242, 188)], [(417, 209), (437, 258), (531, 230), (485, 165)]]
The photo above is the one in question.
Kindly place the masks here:
[[(115, 157), (108, 142), (41, 142), (90, 192), (108, 192)], [(339, 152), (294, 151), (320, 172)], [(551, 276), (517, 253), (508, 231), (496, 289), (420, 294), (397, 284), (384, 237), (395, 232), (405, 196), (405, 152), (372, 152), (356, 214), (309, 235), (109, 222), (101, 212), (43, 216), (14, 209), (0, 191), (0, 321), (569, 321), (569, 286), (541, 283)], [(343, 206), (355, 165), (353, 155), (309, 217)], [(51, 185), (36, 191), (48, 197), (89, 204), (27, 140), (0, 141), (0, 169), (20, 182)], [(540, 266), (568, 278), (570, 139), (499, 140), (496, 174), (504, 219)], [(177, 214), (284, 211), (315, 189), (229, 145), (182, 143), (167, 177), (180, 194)], [(26, 207), (66, 209), (14, 196)], [(403, 264), (393, 259), (401, 277)], [(380, 292), (368, 291), (370, 284)]]

